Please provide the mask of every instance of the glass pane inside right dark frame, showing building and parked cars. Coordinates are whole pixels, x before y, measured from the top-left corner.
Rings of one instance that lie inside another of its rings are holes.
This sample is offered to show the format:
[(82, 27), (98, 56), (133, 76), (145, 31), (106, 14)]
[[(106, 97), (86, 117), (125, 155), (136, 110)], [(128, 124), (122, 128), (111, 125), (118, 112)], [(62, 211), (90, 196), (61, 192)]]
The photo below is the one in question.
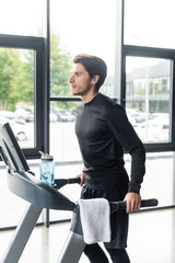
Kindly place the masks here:
[(127, 57), (126, 110), (143, 142), (171, 141), (172, 61)]

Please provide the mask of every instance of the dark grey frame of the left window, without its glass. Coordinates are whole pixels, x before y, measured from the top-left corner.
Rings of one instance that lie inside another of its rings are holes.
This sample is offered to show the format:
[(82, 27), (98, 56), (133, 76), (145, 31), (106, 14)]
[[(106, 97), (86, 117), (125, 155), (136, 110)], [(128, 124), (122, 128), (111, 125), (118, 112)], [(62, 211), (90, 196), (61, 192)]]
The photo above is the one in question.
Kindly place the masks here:
[(34, 72), (34, 106), (35, 106), (35, 123), (34, 123), (34, 140), (33, 148), (22, 149), (26, 159), (39, 158), (38, 150), (46, 148), (45, 136), (47, 129), (44, 129), (44, 101), (47, 100), (44, 89), (44, 47), (43, 37), (18, 36), (0, 34), (0, 48), (23, 48), (35, 52), (35, 72)]

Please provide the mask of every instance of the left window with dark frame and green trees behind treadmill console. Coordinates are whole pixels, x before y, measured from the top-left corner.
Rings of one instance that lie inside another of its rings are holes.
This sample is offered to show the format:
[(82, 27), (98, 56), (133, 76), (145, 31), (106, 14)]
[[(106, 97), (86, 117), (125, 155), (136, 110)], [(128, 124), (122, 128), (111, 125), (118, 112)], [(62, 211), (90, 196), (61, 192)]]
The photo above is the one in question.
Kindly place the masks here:
[(44, 148), (43, 52), (42, 37), (0, 35), (0, 123), (10, 122), (30, 158)]

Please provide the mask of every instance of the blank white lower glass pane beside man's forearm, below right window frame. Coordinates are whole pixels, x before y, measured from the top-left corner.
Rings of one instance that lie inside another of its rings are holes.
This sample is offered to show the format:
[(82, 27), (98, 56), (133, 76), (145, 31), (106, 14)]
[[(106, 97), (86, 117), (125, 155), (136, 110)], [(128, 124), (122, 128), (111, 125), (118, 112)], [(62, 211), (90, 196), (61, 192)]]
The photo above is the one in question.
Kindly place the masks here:
[[(130, 157), (125, 156), (126, 169), (130, 173)], [(175, 205), (174, 153), (147, 153), (147, 172), (141, 186), (141, 197), (158, 198), (159, 206)], [(166, 179), (165, 179), (166, 176)]]

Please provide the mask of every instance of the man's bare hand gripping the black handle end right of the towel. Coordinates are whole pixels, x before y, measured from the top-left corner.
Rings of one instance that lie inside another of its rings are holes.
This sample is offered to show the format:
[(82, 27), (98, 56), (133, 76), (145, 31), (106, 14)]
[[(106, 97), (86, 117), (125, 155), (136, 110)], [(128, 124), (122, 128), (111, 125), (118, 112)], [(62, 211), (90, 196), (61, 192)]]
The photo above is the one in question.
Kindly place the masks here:
[(137, 193), (128, 193), (125, 196), (125, 199), (127, 202), (127, 209), (126, 211), (132, 211), (132, 210), (139, 210), (141, 205), (141, 196)]

